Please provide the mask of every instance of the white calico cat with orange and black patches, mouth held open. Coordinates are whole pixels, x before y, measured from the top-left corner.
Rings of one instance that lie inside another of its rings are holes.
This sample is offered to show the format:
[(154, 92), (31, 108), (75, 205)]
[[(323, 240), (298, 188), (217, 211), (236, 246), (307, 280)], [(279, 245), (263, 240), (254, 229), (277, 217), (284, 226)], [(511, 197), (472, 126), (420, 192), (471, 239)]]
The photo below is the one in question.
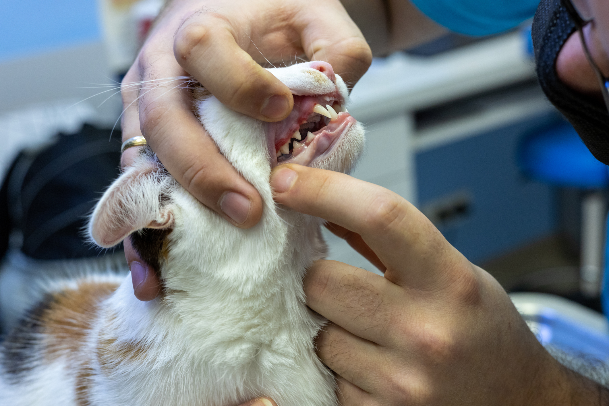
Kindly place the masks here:
[(130, 277), (111, 273), (53, 281), (2, 344), (0, 405), (337, 405), (314, 348), (326, 321), (303, 293), (306, 269), (326, 256), (323, 220), (276, 205), (269, 177), (281, 163), (350, 172), (364, 127), (328, 63), (269, 71), (294, 94), (281, 122), (191, 89), (201, 124), (262, 197), (258, 225), (230, 225), (145, 147), (100, 198), (88, 233), (104, 248), (130, 236), (160, 270), (160, 296), (138, 301)]

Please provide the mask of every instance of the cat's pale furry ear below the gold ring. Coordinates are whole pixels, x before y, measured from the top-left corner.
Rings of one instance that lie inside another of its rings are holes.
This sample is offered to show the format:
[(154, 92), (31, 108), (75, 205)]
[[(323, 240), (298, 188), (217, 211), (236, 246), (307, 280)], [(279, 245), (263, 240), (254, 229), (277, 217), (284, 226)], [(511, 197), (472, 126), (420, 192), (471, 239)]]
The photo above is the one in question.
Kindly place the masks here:
[(142, 228), (172, 228), (172, 205), (164, 194), (170, 182), (170, 175), (150, 159), (127, 169), (97, 202), (89, 220), (91, 239), (110, 248)]

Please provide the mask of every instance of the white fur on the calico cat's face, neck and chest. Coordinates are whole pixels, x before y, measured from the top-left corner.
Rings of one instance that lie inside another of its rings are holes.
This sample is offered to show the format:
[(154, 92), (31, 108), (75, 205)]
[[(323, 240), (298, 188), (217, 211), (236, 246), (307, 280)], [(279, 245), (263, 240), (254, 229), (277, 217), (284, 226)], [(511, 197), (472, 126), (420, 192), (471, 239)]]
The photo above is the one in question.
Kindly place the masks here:
[[(295, 94), (338, 89), (347, 102), (340, 77), (336, 85), (319, 75), (313, 80), (312, 70), (306, 64), (270, 69)], [(125, 278), (99, 307), (79, 354), (93, 369), (87, 405), (230, 406), (269, 396), (279, 406), (333, 406), (334, 377), (313, 343), (325, 321), (306, 307), (302, 287), (306, 269), (326, 253), (322, 220), (275, 205), (262, 122), (214, 97), (198, 108), (220, 151), (260, 193), (262, 219), (249, 229), (230, 225), (151, 156), (112, 184), (91, 219), (97, 243), (114, 245), (145, 227), (172, 231), (160, 264), (163, 297), (138, 301)], [(362, 146), (363, 128), (353, 125), (312, 166), (347, 172)], [(138, 345), (146, 355), (103, 367), (100, 342), (117, 351)], [(65, 363), (42, 362), (18, 385), (0, 379), (0, 405), (77, 405), (74, 396), (68, 399), (77, 366)]]

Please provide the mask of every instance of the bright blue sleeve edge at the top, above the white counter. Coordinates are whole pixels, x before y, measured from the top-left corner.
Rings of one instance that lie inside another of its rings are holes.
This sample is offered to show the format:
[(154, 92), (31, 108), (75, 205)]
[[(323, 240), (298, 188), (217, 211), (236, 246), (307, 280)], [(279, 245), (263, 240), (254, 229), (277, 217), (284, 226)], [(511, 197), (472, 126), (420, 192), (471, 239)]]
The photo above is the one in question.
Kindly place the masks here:
[(421, 12), (451, 31), (491, 35), (532, 18), (539, 0), (410, 0)]

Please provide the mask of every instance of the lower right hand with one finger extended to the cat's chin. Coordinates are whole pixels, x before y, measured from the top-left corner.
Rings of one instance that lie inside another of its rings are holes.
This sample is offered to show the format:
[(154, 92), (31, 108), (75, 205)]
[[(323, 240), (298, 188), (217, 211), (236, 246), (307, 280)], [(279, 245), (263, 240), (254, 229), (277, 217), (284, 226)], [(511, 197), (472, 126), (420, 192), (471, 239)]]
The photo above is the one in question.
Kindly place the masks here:
[[(587, 405), (607, 390), (569, 371), (529, 331), (501, 285), (400, 196), (342, 173), (285, 164), (275, 200), (322, 217), (385, 277), (317, 261), (308, 306), (343, 405)], [(596, 404), (596, 403), (595, 403)]]

